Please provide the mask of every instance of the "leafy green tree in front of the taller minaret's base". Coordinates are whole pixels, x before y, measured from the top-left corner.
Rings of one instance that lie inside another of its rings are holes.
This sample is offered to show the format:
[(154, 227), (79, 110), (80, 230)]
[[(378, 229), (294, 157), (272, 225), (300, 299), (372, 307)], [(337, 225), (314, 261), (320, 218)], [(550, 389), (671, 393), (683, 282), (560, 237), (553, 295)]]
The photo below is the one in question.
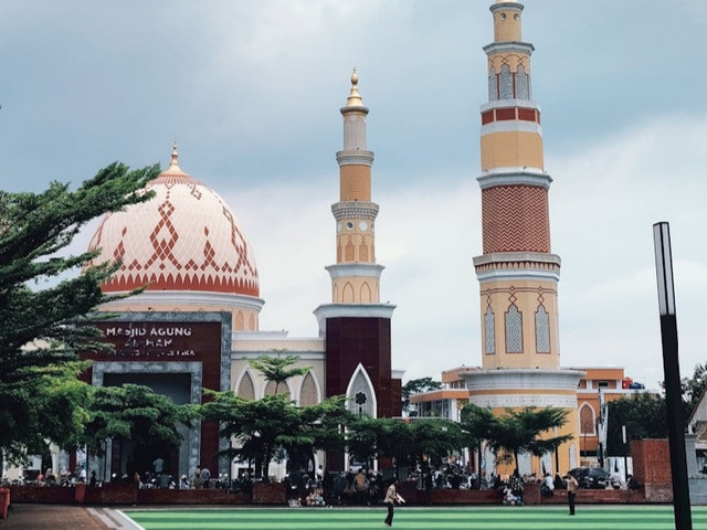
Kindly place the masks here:
[[(474, 406), (469, 404), (465, 409)], [(473, 411), (468, 414), (483, 417), (482, 411)], [(496, 455), (497, 462), (505, 464), (514, 462), (517, 468), (520, 453), (542, 456), (572, 439), (570, 434), (542, 437), (545, 433), (555, 427), (564, 425), (567, 415), (567, 410), (556, 407), (525, 407), (518, 411), (506, 409), (504, 415), (488, 418), (489, 424), (486, 432), (488, 446)]]

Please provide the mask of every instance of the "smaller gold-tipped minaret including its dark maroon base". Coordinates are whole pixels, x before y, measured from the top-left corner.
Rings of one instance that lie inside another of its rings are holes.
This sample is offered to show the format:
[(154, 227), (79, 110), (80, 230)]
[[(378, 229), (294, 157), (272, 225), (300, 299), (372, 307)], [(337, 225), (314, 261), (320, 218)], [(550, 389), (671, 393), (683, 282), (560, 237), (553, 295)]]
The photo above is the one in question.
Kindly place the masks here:
[[(336, 220), (336, 264), (331, 304), (315, 309), (325, 337), (326, 395), (346, 394), (351, 412), (373, 417), (400, 415), (400, 379), (392, 379), (390, 320), (395, 306), (380, 303), (382, 265), (376, 264), (373, 224), (378, 204), (371, 202), (373, 153), (366, 147), (368, 108), (358, 92), (358, 75), (341, 108), (344, 149), (339, 165)], [(329, 463), (329, 465), (333, 465)]]

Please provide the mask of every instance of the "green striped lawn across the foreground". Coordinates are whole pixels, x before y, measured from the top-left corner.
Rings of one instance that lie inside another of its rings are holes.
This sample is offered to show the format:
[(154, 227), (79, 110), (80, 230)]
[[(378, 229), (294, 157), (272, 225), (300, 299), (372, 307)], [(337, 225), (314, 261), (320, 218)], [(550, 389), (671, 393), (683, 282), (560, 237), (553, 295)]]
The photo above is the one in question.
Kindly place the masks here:
[[(126, 510), (145, 530), (288, 530), (386, 528), (386, 509), (273, 508)], [(424, 530), (673, 530), (673, 507), (397, 508), (393, 528)], [(693, 507), (693, 529), (707, 530), (707, 507)]]

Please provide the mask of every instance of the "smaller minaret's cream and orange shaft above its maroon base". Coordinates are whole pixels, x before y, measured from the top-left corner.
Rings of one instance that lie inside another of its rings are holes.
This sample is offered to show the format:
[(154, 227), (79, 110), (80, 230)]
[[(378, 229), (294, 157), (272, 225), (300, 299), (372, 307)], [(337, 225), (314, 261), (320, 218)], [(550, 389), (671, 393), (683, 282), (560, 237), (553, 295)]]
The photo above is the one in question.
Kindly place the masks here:
[(331, 276), (334, 304), (376, 304), (380, 301), (379, 280), (383, 266), (376, 264), (373, 223), (378, 204), (371, 202), (373, 153), (366, 148), (368, 108), (358, 92), (358, 75), (351, 74), (351, 91), (341, 107), (344, 149), (339, 163), (339, 202), (331, 206), (336, 220), (336, 265)]

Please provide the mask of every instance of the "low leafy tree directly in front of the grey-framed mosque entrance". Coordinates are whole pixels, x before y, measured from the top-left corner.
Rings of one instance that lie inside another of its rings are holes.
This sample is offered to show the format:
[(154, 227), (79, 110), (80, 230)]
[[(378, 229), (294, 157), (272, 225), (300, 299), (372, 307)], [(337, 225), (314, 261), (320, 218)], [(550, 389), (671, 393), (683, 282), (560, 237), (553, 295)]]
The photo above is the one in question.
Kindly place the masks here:
[(177, 449), (182, 441), (178, 425), (188, 425), (198, 417), (190, 405), (177, 405), (168, 396), (138, 384), (94, 389), (88, 411), (82, 442), (93, 455), (104, 454), (106, 439), (131, 441), (165, 452)]

